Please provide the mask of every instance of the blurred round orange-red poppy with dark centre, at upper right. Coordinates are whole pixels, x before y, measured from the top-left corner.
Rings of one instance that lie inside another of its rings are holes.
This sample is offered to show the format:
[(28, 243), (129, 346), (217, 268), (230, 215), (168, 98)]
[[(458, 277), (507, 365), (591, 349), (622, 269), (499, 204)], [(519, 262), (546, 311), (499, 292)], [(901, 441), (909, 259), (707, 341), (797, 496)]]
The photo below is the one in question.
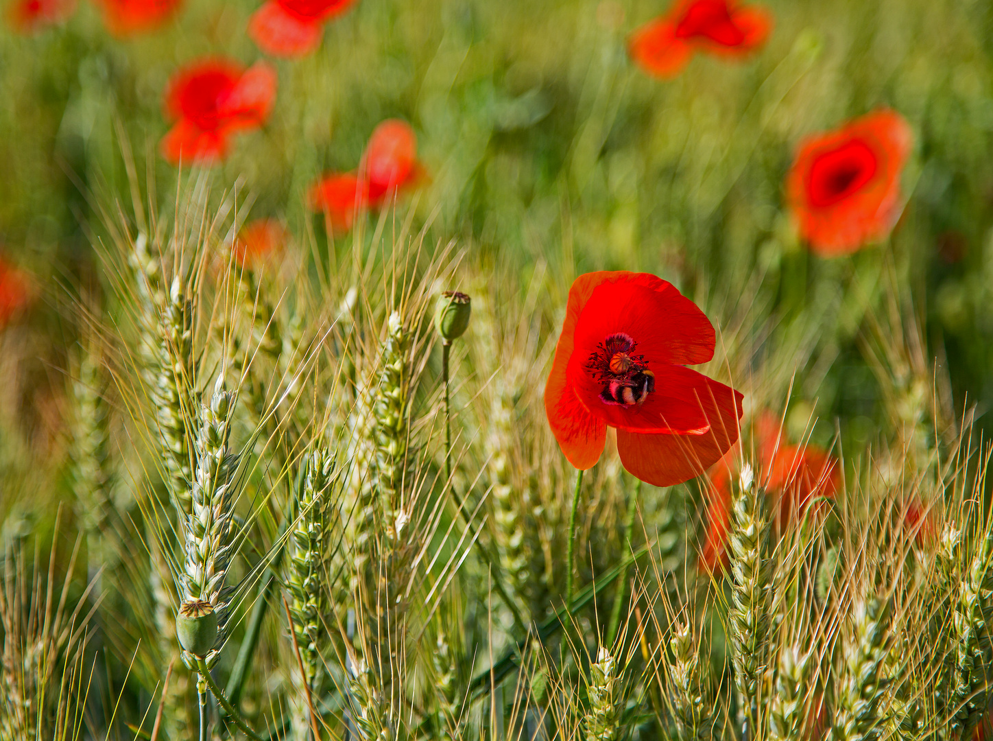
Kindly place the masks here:
[(878, 110), (801, 143), (786, 198), (810, 249), (848, 254), (889, 234), (900, 216), (900, 174), (913, 141), (903, 116)]

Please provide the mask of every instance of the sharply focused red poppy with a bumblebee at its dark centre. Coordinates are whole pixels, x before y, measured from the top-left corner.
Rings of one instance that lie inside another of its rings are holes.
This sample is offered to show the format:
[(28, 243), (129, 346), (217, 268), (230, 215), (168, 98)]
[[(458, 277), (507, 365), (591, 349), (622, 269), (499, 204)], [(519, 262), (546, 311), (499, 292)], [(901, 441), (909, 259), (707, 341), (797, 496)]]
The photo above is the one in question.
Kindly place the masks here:
[(648, 484), (679, 484), (713, 465), (738, 439), (742, 394), (684, 365), (708, 362), (714, 339), (703, 312), (654, 275), (576, 278), (545, 387), (569, 462), (592, 468), (610, 426), (624, 467)]

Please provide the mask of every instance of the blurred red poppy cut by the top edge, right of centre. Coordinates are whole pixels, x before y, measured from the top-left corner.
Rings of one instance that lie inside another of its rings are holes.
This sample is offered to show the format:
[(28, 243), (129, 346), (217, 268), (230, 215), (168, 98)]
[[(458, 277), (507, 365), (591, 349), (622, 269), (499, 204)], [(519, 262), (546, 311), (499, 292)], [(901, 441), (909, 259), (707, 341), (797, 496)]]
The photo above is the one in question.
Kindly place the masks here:
[(766, 43), (773, 17), (733, 0), (683, 0), (631, 36), (631, 58), (649, 74), (674, 77), (696, 51), (745, 57)]

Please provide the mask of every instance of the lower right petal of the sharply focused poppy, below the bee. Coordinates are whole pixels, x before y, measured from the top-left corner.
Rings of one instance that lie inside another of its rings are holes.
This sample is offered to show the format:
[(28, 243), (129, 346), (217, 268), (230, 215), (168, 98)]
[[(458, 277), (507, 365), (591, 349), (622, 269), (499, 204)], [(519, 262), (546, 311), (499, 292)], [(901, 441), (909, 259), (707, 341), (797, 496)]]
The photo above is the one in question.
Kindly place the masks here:
[(633, 476), (668, 487), (699, 476), (738, 440), (742, 394), (707, 378), (709, 394), (700, 398), (710, 421), (703, 435), (643, 434), (618, 430), (618, 453)]

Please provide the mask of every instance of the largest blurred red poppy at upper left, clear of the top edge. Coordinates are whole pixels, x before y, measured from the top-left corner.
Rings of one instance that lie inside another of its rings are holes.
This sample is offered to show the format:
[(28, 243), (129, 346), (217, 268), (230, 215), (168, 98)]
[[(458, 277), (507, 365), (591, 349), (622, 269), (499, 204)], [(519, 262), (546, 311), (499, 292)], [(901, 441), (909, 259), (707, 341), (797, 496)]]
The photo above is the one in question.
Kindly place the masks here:
[(173, 163), (222, 159), (231, 134), (265, 122), (275, 94), (276, 73), (261, 62), (242, 70), (207, 60), (180, 71), (166, 93), (166, 109), (178, 120), (162, 139), (163, 155)]

